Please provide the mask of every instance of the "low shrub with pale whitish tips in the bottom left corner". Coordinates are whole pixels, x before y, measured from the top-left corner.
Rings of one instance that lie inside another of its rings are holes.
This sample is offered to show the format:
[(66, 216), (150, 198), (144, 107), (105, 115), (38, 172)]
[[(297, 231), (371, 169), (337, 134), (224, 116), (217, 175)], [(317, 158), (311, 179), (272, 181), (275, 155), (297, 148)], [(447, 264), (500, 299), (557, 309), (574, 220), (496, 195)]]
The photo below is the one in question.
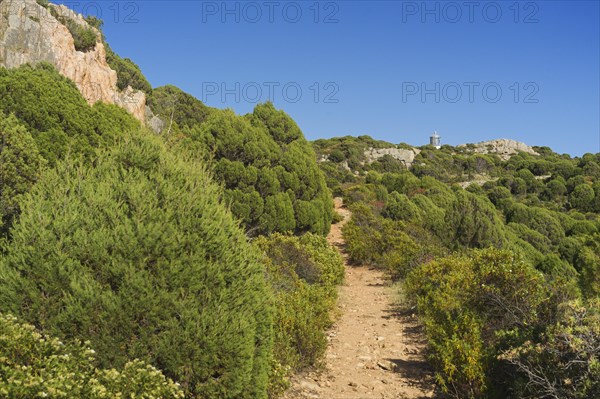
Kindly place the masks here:
[(11, 399), (184, 397), (178, 384), (140, 360), (128, 361), (121, 370), (98, 369), (95, 353), (87, 344), (64, 344), (0, 314), (0, 395)]

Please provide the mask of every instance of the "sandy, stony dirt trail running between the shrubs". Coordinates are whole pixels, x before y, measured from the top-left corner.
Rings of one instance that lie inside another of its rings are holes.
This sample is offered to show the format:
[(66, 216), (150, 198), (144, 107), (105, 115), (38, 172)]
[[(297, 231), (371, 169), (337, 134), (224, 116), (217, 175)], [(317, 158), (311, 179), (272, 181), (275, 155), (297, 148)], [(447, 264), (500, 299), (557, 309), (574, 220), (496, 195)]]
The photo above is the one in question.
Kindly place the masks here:
[(341, 228), (350, 212), (339, 198), (335, 207), (344, 221), (332, 226), (327, 239), (344, 256), (341, 315), (329, 332), (325, 370), (296, 377), (286, 399), (434, 397), (415, 319), (394, 306), (395, 293), (383, 273), (348, 265)]

